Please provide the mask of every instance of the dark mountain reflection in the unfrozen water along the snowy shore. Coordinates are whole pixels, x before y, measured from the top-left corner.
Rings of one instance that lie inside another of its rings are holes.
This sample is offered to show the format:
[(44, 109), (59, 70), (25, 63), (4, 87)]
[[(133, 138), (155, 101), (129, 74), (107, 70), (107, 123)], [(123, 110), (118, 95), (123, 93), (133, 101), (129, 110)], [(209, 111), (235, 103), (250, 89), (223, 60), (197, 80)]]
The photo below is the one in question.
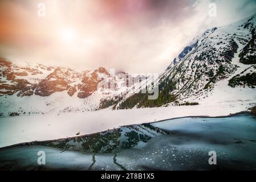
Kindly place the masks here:
[(95, 153), (112, 152), (116, 148), (132, 148), (140, 143), (147, 143), (152, 137), (169, 134), (149, 124), (123, 126), (119, 129), (66, 139), (31, 142), (32, 145), (79, 150)]

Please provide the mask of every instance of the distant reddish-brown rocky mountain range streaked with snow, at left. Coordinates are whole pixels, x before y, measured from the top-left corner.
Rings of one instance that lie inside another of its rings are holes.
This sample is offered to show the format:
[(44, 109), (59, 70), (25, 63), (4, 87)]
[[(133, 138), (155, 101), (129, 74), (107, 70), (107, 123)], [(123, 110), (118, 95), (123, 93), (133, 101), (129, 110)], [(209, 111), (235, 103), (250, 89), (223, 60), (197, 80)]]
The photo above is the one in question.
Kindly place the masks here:
[[(0, 60), (0, 116), (92, 111), (147, 81), (145, 75), (77, 72), (42, 64)], [(112, 75), (111, 75), (112, 74)]]

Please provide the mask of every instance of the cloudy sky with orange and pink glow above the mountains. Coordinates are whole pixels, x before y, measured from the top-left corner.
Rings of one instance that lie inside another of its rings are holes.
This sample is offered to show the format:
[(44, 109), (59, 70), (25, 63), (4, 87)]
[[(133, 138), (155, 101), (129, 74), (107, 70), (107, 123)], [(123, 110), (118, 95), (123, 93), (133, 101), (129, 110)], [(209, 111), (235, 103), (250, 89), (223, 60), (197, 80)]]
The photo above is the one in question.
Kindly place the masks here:
[(0, 57), (159, 73), (194, 36), (255, 10), (255, 0), (1, 0)]

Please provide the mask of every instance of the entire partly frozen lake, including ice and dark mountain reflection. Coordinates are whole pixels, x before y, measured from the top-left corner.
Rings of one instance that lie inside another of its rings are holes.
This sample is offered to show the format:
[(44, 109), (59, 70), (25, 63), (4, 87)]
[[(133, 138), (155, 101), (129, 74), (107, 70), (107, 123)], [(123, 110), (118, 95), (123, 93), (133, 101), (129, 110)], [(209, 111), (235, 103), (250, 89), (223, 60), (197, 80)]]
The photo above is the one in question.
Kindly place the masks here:
[[(46, 153), (46, 165), (38, 165), (38, 151)], [(209, 151), (216, 165), (208, 163)], [(255, 170), (256, 118), (180, 118), (27, 143), (1, 149), (0, 169)]]

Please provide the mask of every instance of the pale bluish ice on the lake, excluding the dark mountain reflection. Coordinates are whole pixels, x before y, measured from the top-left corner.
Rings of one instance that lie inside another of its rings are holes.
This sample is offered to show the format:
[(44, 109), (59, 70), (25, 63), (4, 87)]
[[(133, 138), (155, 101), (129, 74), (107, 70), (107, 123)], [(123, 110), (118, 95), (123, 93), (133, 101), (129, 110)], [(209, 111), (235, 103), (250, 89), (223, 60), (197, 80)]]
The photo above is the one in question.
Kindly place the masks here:
[[(0, 169), (256, 169), (256, 118), (252, 115), (179, 118), (151, 125), (170, 134), (103, 154), (44, 146), (6, 148), (0, 150)], [(36, 163), (39, 150), (46, 151), (46, 166)], [(216, 151), (217, 165), (209, 165), (209, 151)]]

